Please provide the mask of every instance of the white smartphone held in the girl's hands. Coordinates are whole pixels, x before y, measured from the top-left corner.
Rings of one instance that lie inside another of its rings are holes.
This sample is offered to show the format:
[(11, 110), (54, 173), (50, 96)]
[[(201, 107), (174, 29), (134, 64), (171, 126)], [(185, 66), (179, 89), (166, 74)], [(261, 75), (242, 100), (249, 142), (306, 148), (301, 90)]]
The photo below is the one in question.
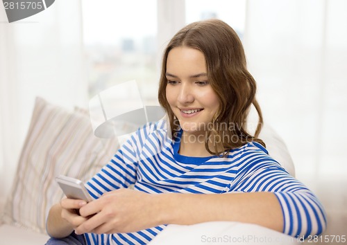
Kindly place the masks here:
[(68, 176), (59, 175), (56, 177), (56, 181), (62, 188), (62, 191), (67, 196), (67, 198), (71, 199), (81, 199), (84, 201), (90, 202), (92, 201), (92, 197), (88, 193), (85, 185), (79, 179), (74, 179)]

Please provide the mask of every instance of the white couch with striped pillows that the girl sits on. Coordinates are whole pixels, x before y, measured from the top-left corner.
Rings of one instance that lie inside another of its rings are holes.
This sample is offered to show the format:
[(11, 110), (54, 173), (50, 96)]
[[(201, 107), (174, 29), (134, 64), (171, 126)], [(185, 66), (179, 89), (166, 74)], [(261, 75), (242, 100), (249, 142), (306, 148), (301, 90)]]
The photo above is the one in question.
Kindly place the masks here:
[[(294, 175), (291, 157), (276, 132), (266, 126), (261, 138), (269, 154)], [(0, 206), (0, 245), (45, 244), (49, 239), (44, 228), (47, 212), (62, 197), (54, 177), (67, 174), (87, 180), (107, 163), (117, 147), (115, 139), (101, 140), (94, 136), (90, 118), (83, 109), (67, 111), (37, 98), (12, 190), (2, 199), (6, 206)], [(151, 244), (264, 244), (266, 241), (296, 244), (296, 239), (282, 233), (227, 221), (169, 225)]]

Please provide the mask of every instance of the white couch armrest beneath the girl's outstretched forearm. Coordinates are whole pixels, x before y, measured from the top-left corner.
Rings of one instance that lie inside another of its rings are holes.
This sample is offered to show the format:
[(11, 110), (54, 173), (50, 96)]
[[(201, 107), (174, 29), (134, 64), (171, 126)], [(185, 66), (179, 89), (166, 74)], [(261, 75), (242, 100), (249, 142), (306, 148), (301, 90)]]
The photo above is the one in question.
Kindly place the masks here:
[(276, 230), (255, 224), (231, 221), (211, 221), (190, 226), (169, 225), (151, 242), (151, 245), (214, 245), (214, 244), (299, 244)]

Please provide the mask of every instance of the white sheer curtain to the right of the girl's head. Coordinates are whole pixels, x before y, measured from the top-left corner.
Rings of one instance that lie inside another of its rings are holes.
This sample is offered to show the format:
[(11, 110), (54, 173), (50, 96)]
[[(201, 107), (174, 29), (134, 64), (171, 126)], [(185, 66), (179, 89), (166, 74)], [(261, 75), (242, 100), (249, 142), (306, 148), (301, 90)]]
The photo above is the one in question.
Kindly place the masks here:
[(248, 0), (244, 45), (299, 179), (346, 176), (347, 1)]

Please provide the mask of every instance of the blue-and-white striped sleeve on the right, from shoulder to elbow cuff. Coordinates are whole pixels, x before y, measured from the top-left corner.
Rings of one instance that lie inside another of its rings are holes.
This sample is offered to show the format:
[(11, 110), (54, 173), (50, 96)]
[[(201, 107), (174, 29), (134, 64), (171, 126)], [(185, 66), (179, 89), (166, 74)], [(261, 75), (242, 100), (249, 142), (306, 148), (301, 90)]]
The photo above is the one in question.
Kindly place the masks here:
[[(273, 192), (282, 208), (283, 233), (294, 237), (319, 235), (326, 228), (324, 208), (303, 183), (288, 174), (262, 147), (255, 147), (240, 161), (230, 192)], [(241, 160), (241, 159), (240, 159)]]

